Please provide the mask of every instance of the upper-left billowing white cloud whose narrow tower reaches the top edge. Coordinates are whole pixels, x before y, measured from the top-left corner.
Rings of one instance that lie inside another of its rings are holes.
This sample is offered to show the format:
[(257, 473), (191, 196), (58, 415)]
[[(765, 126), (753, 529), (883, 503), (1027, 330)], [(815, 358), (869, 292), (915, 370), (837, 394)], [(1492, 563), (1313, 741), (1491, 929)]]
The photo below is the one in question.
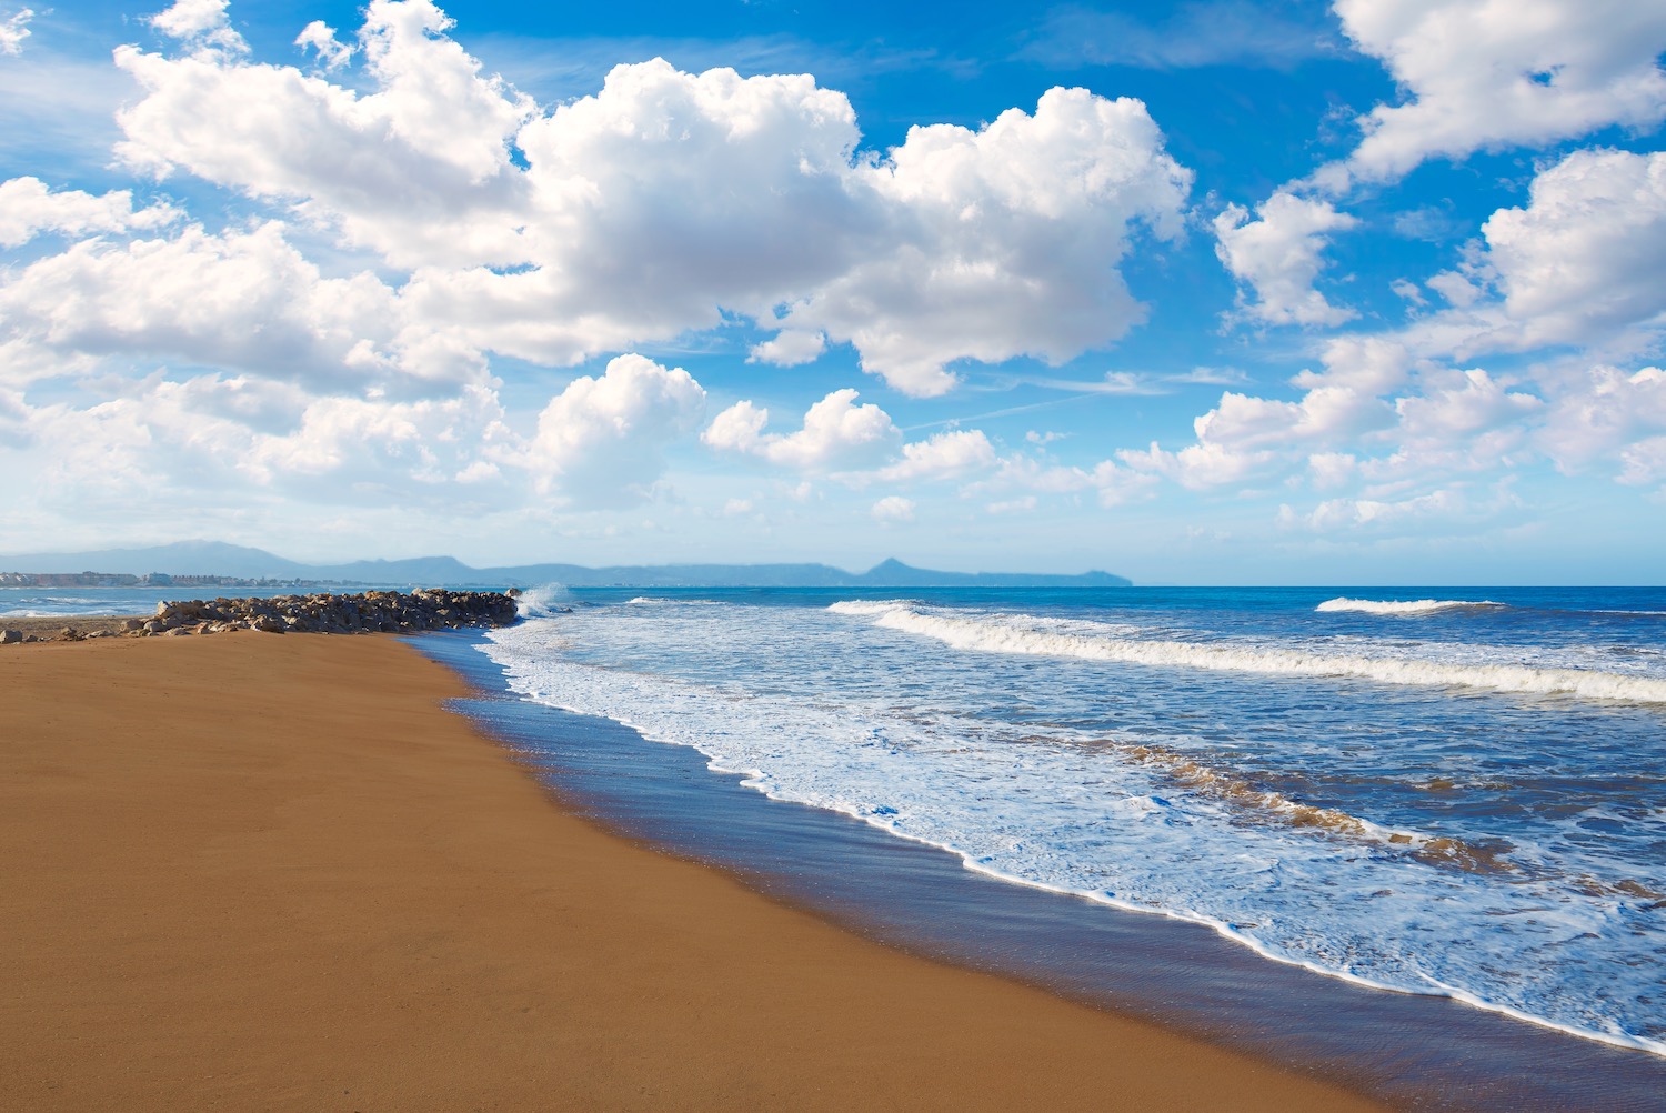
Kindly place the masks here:
[(426, 0), (373, 0), (360, 32), (368, 95), (237, 53), (120, 47), (145, 97), (118, 113), (117, 155), (292, 202), (395, 267), (523, 262), (508, 142), (533, 108), (481, 78), (448, 27)]

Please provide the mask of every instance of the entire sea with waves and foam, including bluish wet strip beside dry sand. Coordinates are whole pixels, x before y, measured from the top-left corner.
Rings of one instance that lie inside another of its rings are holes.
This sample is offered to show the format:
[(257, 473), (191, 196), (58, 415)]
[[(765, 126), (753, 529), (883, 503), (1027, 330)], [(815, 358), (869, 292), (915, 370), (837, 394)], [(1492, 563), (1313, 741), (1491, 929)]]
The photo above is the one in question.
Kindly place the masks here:
[(1401, 1105), (1666, 1108), (1663, 588), (550, 585), (521, 615), (416, 641), (628, 833)]

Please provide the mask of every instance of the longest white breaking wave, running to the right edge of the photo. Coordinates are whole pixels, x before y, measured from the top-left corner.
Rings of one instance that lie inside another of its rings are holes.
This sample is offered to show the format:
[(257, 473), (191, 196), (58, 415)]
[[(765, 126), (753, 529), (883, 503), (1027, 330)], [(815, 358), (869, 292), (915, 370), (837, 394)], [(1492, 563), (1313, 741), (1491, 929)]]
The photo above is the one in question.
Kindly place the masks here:
[[(1529, 665), (1484, 665), (1381, 656), (1324, 655), (1253, 645), (1208, 645), (1200, 641), (1158, 641), (1086, 633), (1048, 633), (1023, 625), (1023, 616), (990, 615), (958, 618), (926, 613), (906, 603), (835, 603), (828, 610), (870, 615), (875, 625), (918, 633), (956, 648), (985, 653), (1030, 653), (1121, 661), (1160, 668), (1203, 668), (1213, 671), (1261, 673), (1274, 676), (1334, 676), (1388, 685), (1456, 686), (1521, 695), (1568, 695), (1584, 700), (1666, 703), (1666, 680), (1626, 676), (1578, 668), (1533, 668)], [(875, 610), (876, 608), (876, 610)]]

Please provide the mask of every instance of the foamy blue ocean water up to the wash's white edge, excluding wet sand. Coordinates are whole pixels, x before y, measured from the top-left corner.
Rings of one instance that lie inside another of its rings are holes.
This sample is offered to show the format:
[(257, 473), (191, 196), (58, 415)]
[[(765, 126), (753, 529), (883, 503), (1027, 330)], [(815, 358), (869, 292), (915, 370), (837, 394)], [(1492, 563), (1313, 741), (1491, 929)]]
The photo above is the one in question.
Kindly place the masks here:
[(1663, 590), (550, 590), (525, 615), (481, 645), (515, 691), (770, 796), (1666, 1053)]

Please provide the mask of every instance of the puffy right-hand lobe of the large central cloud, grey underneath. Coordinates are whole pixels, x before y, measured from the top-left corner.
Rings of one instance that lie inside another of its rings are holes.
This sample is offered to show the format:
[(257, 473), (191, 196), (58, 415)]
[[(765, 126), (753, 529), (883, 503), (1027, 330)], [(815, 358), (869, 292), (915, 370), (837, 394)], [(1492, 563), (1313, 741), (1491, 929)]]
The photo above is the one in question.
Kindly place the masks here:
[(1191, 173), (1138, 100), (1048, 90), (981, 132), (916, 127), (855, 180), (885, 248), (791, 303), (783, 325), (851, 340), (893, 387), (936, 395), (953, 360), (1053, 363), (1145, 320), (1116, 263), (1130, 227), (1181, 232)]

